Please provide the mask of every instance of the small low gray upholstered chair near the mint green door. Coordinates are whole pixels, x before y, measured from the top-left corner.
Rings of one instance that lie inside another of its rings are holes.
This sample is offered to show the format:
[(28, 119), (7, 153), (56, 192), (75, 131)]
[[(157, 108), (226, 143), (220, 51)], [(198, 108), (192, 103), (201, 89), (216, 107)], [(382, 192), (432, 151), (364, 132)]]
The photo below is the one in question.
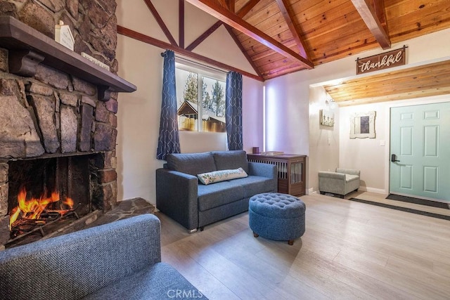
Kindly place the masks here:
[(343, 198), (359, 189), (359, 170), (340, 169), (335, 172), (319, 171), (319, 191), (323, 195), (331, 193)]

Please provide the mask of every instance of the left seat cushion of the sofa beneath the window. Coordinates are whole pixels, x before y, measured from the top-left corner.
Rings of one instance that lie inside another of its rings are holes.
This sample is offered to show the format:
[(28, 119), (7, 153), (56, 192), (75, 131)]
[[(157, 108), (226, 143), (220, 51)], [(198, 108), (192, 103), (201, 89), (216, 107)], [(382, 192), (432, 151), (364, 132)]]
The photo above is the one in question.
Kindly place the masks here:
[(236, 184), (240, 179), (222, 181), (210, 185), (198, 185), (198, 210), (206, 211), (214, 207), (243, 199), (244, 188)]

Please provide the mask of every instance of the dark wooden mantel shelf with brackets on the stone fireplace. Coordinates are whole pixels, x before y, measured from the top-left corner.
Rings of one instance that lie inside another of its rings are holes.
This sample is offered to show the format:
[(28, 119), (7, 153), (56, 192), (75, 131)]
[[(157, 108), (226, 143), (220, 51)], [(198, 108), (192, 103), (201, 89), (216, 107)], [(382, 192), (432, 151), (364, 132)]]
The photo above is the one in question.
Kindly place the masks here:
[(136, 91), (134, 84), (10, 16), (0, 17), (0, 48), (9, 50), (9, 69), (13, 74), (33, 77), (37, 65), (42, 63), (96, 85), (98, 100), (108, 101), (111, 92)]

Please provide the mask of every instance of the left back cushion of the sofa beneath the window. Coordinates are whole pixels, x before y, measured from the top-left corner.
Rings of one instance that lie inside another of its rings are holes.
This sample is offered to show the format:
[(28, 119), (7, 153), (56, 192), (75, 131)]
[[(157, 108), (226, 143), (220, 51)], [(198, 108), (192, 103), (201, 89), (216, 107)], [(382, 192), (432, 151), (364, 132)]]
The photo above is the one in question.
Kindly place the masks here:
[(214, 164), (214, 157), (211, 152), (169, 154), (167, 155), (167, 167), (171, 170), (191, 174), (193, 176), (217, 171), (216, 164)]

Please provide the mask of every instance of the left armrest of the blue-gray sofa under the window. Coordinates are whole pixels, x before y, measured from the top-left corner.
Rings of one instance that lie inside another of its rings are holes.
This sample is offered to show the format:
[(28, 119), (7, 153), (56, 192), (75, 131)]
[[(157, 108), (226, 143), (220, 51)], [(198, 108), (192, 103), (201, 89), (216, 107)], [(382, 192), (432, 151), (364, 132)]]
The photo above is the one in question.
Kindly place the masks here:
[(198, 228), (198, 178), (179, 171), (157, 169), (156, 208), (188, 230)]

